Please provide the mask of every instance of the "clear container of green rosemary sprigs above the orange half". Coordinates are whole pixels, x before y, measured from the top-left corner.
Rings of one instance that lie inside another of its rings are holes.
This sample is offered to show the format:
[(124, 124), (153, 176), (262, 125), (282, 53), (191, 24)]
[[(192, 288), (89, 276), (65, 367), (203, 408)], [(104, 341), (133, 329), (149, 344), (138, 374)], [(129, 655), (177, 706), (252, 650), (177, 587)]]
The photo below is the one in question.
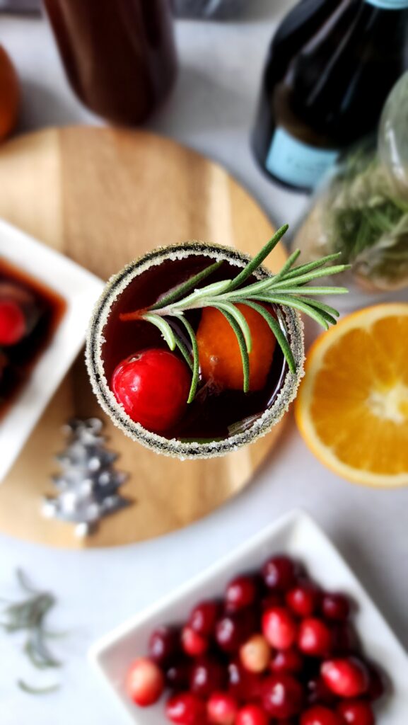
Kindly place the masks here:
[(296, 247), (310, 260), (341, 252), (367, 291), (408, 284), (408, 73), (388, 98), (377, 145), (365, 142), (336, 167)]

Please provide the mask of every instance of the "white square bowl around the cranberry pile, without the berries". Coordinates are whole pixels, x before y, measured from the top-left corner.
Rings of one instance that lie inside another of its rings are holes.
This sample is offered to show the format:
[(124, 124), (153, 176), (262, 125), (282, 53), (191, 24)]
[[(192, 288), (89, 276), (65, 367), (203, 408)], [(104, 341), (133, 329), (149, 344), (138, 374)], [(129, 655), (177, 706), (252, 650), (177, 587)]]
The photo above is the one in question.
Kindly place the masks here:
[(359, 605), (355, 618), (367, 655), (382, 663), (391, 676), (393, 693), (378, 708), (378, 725), (408, 722), (408, 656), (346, 562), (315, 521), (293, 511), (260, 531), (225, 558), (199, 573), (176, 592), (138, 613), (91, 648), (90, 658), (129, 723), (162, 725), (163, 701), (137, 708), (125, 694), (125, 675), (132, 660), (146, 654), (151, 631), (159, 624), (186, 620), (199, 600), (222, 594), (228, 581), (242, 571), (257, 569), (274, 553), (301, 560), (326, 589), (345, 592)]

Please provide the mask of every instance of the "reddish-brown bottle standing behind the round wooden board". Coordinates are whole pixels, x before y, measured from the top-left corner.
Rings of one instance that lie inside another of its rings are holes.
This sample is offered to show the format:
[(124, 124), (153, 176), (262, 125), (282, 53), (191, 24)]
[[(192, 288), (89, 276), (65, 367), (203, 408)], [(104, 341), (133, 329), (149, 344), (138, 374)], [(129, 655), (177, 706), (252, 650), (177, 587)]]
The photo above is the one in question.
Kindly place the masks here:
[(177, 70), (169, 0), (44, 0), (70, 84), (98, 115), (146, 120)]

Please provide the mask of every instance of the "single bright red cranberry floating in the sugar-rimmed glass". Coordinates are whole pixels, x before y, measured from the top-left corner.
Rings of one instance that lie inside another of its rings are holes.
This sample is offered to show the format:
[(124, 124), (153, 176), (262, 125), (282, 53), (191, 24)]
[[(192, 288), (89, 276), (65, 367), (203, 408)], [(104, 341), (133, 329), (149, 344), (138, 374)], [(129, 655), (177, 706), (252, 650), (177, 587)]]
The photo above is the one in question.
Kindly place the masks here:
[(153, 433), (178, 423), (186, 410), (191, 373), (172, 352), (143, 350), (122, 360), (112, 375), (112, 391), (132, 421)]

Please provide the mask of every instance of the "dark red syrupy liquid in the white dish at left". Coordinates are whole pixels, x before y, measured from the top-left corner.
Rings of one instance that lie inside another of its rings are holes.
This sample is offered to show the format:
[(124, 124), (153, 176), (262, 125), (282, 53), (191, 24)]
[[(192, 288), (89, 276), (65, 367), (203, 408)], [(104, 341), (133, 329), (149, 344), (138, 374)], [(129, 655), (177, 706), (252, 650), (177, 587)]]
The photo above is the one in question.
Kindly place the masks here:
[(51, 341), (67, 305), (59, 294), (1, 258), (0, 298), (17, 302), (27, 324), (27, 334), (20, 342), (0, 347), (2, 416), (27, 381), (39, 355)]

